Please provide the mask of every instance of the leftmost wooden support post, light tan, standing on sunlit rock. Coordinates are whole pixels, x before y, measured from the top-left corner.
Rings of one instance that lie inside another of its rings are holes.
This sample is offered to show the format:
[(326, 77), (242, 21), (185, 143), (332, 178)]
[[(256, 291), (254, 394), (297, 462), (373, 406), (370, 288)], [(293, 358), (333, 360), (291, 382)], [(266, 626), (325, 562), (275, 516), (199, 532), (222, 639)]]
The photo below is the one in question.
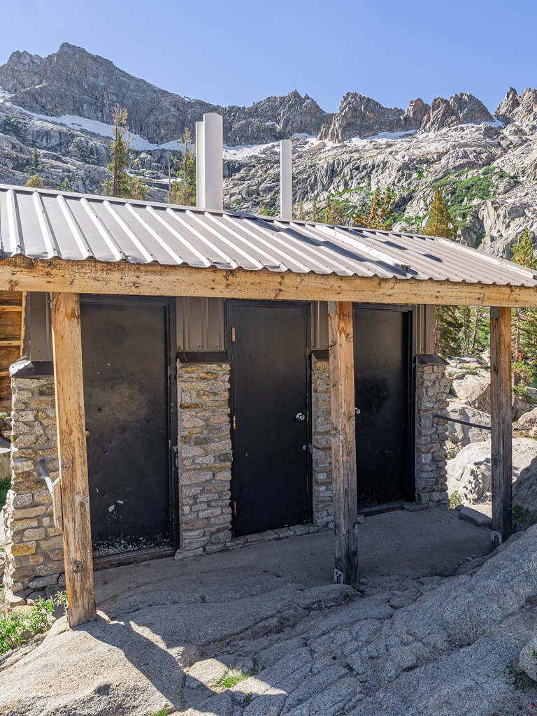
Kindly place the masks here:
[(97, 618), (78, 294), (53, 294), (52, 347), (69, 627)]

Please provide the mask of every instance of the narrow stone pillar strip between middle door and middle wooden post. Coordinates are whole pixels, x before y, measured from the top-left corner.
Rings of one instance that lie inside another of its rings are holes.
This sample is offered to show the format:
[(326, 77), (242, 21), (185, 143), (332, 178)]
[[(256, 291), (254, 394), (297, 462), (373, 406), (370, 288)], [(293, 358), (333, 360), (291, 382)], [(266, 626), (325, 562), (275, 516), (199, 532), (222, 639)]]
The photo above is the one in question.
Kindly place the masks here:
[(311, 420), (313, 521), (316, 526), (333, 527), (330, 367), (327, 360), (315, 357), (311, 358)]

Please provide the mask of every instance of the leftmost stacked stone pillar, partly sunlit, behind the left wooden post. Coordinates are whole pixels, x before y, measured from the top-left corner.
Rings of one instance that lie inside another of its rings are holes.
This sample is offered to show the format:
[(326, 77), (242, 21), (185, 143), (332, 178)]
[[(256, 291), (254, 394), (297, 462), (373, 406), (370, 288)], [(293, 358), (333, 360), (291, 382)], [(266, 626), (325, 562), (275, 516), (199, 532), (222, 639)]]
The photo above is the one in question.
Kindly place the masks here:
[(62, 533), (54, 525), (52, 497), (39, 470), (44, 459), (52, 480), (58, 476), (54, 379), (14, 377), (11, 392), (11, 490), (4, 511), (8, 605), (57, 584), (64, 571)]

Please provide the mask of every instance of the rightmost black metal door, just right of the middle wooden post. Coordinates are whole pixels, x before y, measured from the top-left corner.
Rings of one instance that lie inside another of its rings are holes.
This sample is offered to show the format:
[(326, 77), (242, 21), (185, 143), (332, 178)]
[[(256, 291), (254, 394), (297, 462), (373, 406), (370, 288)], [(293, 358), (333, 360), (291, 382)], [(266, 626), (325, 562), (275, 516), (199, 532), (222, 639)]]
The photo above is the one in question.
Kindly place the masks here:
[[(358, 504), (410, 496), (412, 311), (354, 307)], [(359, 411), (359, 412), (358, 412)]]

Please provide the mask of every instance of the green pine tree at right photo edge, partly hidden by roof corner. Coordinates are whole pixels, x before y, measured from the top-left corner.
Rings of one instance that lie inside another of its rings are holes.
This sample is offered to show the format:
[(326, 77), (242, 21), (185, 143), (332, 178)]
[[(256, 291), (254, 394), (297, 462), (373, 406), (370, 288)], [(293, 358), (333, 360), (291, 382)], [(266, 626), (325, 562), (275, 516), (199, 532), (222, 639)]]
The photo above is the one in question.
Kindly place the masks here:
[[(537, 258), (533, 253), (533, 241), (525, 228), (516, 243), (511, 246), (512, 261), (537, 269)], [(515, 385), (531, 382), (537, 366), (537, 310), (513, 309), (513, 379)]]

